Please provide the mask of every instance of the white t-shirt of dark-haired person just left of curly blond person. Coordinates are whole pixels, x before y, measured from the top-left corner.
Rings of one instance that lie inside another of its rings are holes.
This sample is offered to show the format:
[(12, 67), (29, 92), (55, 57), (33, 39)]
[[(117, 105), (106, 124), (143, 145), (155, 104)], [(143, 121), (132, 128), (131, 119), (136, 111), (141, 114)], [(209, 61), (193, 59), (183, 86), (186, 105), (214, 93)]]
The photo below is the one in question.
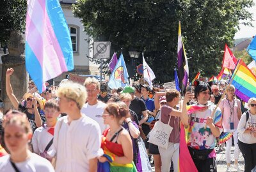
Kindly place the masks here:
[[(52, 140), (53, 136), (48, 132), (49, 127), (39, 127), (35, 130), (32, 138), (33, 150), (36, 154), (43, 153), (48, 143)], [(52, 150), (52, 145), (48, 151)]]

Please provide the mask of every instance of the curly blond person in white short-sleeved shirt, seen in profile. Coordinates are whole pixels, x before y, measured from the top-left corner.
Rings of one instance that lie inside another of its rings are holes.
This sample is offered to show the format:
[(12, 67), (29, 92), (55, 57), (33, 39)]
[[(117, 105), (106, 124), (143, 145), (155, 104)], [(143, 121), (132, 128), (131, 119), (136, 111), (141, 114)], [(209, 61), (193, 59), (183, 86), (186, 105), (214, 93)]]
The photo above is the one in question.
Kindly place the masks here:
[(100, 148), (100, 127), (95, 120), (81, 113), (86, 90), (79, 83), (61, 84), (57, 91), (61, 117), (54, 129), (51, 155), (56, 155), (58, 171), (96, 171)]

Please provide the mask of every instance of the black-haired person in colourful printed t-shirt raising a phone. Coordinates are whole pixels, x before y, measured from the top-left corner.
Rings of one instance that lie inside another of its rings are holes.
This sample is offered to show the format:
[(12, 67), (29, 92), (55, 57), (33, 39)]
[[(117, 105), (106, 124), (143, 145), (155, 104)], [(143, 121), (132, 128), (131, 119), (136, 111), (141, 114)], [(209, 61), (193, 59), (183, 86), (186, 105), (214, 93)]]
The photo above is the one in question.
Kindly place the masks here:
[[(180, 119), (184, 127), (188, 128), (187, 145), (198, 172), (214, 172), (217, 171), (214, 147), (216, 137), (219, 137), (222, 131), (221, 110), (217, 108), (212, 115), (216, 105), (208, 104), (211, 95), (211, 87), (208, 83), (196, 81), (194, 85), (195, 95), (187, 91), (184, 96)], [(191, 105), (189, 109), (198, 109), (188, 114), (186, 104), (194, 96), (197, 104)]]

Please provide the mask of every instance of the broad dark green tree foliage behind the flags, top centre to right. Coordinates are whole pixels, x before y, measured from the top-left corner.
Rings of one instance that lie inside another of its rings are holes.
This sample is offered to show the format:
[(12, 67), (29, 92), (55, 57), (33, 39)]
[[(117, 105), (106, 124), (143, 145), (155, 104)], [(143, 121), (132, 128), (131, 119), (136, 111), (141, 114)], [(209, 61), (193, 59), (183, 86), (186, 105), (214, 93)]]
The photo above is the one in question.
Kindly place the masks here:
[[(95, 40), (111, 41), (112, 52), (144, 52), (159, 82), (173, 80), (177, 68), (178, 24), (189, 76), (220, 71), (225, 43), (232, 47), (239, 20), (252, 20), (252, 0), (77, 0), (74, 15)], [(250, 24), (244, 23), (244, 24)]]

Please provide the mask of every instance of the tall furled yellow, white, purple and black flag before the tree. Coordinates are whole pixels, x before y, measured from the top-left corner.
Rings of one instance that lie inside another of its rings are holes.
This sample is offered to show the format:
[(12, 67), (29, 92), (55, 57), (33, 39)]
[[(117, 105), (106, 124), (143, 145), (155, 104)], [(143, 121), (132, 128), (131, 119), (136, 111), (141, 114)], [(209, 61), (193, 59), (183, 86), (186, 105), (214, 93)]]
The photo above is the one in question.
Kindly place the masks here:
[(179, 22), (179, 34), (178, 34), (178, 78), (181, 92), (185, 93), (188, 84), (188, 59), (186, 57), (185, 48), (181, 38), (181, 29)]

